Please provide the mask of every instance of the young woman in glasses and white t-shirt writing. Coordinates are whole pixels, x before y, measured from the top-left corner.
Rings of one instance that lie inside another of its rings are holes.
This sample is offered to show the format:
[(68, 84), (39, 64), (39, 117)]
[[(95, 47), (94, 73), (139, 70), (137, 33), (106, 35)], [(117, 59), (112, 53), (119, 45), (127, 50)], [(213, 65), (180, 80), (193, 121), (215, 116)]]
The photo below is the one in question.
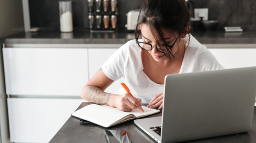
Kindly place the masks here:
[[(104, 63), (84, 85), (81, 97), (122, 111), (141, 109), (141, 103), (162, 109), (166, 75), (223, 69), (189, 31), (190, 12), (185, 0), (145, 0), (135, 29), (136, 39), (121, 46)], [(123, 88), (115, 94), (104, 92), (121, 77), (136, 99)]]

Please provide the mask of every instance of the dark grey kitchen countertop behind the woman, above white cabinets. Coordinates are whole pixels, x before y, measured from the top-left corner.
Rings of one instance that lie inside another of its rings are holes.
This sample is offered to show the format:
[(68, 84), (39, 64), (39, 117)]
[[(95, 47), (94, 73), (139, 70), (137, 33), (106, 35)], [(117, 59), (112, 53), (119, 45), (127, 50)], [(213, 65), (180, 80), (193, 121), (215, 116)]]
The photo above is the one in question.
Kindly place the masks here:
[[(195, 31), (192, 34), (202, 44), (256, 44), (256, 31), (225, 33), (224, 31)], [(89, 30), (74, 30), (61, 33), (57, 30), (26, 32), (1, 38), (1, 43), (24, 44), (124, 44), (134, 39), (134, 34), (119, 30), (114, 33), (91, 33)]]

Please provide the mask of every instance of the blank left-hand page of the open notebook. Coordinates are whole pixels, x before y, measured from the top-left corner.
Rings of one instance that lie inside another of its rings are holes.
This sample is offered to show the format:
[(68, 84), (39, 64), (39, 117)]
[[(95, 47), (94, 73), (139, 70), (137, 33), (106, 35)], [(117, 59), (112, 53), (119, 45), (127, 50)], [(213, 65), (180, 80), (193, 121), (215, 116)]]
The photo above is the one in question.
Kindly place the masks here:
[(75, 111), (72, 115), (107, 127), (128, 114), (130, 113), (107, 105), (90, 104)]

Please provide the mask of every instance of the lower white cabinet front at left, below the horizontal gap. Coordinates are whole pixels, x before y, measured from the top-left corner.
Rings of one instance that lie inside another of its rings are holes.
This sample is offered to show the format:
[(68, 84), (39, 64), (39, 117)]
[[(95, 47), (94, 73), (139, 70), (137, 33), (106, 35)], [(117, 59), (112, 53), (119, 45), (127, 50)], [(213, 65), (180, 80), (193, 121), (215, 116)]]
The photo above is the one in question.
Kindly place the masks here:
[(49, 143), (82, 99), (8, 98), (11, 142)]

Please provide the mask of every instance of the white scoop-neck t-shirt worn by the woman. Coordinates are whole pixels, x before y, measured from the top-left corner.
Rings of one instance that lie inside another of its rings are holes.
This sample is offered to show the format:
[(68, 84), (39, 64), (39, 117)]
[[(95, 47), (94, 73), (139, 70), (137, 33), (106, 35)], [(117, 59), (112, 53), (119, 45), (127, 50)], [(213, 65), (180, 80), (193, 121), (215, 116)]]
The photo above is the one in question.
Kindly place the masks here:
[[(184, 39), (187, 43), (179, 73), (224, 69), (206, 46), (191, 34), (189, 45), (189, 34)], [(156, 94), (163, 92), (163, 84), (154, 83), (143, 71), (141, 50), (136, 40), (128, 41), (102, 65), (102, 71), (111, 80), (124, 78), (132, 95), (141, 98), (142, 103), (149, 103)], [(120, 86), (116, 94), (123, 93), (126, 92)]]

